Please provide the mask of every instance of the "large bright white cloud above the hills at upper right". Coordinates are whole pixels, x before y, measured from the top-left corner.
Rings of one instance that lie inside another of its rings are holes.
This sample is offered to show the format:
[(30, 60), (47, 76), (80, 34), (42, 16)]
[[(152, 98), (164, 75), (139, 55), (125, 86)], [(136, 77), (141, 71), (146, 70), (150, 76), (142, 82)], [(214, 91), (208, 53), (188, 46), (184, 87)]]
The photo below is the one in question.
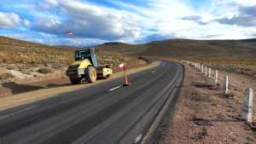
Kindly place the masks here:
[[(255, 32), (253, 27), (242, 25), (227, 25), (216, 22), (217, 19), (232, 19), (240, 14), (240, 8), (244, 5), (252, 5), (256, 1), (218, 1), (212, 0), (207, 11), (192, 9), (184, 1), (150, 0), (148, 18), (154, 21), (150, 26), (162, 36), (172, 36), (191, 39), (239, 39), (252, 37)], [(195, 15), (197, 15), (196, 20)], [(194, 17), (193, 17), (194, 16)], [(238, 24), (243, 24), (247, 17), (240, 15)], [(190, 17), (190, 20), (188, 19)], [(187, 18), (187, 20), (183, 19)], [(200, 18), (200, 19), (199, 19)], [(250, 26), (255, 23), (251, 20)], [(232, 20), (230, 22), (236, 22)], [(254, 25), (255, 27), (255, 25)]]

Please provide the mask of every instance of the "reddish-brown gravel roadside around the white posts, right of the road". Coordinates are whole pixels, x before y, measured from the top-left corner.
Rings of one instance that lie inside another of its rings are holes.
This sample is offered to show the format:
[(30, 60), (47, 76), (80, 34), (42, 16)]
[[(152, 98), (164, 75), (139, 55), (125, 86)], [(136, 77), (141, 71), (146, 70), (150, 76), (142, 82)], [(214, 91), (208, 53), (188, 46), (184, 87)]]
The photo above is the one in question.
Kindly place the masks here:
[(234, 96), (227, 97), (220, 93), (219, 86), (206, 86), (205, 76), (195, 68), (186, 65), (185, 71), (177, 109), (174, 113), (166, 113), (156, 130), (154, 144), (256, 143), (256, 130), (241, 121), (244, 90), (247, 87), (255, 89), (255, 79), (219, 72), (220, 78), (230, 76), (230, 90)]

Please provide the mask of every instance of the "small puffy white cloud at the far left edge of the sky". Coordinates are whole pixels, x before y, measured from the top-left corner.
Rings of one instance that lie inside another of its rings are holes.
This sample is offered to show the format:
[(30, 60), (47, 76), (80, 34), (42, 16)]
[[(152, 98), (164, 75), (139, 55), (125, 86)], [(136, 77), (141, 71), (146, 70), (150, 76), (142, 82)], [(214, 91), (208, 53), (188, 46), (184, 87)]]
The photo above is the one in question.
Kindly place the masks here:
[(20, 16), (15, 13), (0, 12), (0, 27), (11, 28), (20, 24)]

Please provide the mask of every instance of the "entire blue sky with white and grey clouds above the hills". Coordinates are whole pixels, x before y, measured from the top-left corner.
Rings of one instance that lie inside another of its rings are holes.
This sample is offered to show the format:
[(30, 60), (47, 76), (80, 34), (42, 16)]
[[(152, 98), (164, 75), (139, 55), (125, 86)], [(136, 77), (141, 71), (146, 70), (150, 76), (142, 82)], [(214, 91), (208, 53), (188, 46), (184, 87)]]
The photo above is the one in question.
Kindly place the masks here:
[(256, 0), (0, 0), (0, 35), (75, 46), (253, 38)]

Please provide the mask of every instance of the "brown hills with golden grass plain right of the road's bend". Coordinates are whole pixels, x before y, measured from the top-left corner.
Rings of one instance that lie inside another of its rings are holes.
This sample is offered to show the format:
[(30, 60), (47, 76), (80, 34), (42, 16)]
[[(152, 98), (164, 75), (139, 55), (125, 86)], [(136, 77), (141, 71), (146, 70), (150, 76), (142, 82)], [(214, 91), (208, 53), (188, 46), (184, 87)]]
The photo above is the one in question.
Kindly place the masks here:
[(103, 53), (197, 61), (225, 71), (256, 77), (256, 39), (172, 39), (134, 45), (104, 43), (97, 48), (101, 49)]

